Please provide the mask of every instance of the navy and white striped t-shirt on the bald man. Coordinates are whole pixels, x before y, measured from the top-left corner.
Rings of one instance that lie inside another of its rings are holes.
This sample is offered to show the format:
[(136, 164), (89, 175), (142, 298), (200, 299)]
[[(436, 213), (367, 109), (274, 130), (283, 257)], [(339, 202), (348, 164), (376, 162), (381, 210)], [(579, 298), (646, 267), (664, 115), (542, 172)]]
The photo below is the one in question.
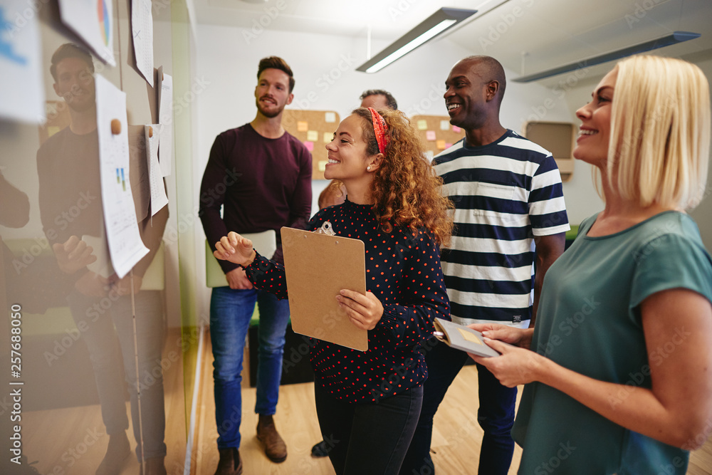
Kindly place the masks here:
[(533, 237), (569, 229), (556, 162), (507, 130), (483, 147), (460, 140), (433, 165), (455, 204), (453, 238), (441, 256), (452, 320), (527, 327)]

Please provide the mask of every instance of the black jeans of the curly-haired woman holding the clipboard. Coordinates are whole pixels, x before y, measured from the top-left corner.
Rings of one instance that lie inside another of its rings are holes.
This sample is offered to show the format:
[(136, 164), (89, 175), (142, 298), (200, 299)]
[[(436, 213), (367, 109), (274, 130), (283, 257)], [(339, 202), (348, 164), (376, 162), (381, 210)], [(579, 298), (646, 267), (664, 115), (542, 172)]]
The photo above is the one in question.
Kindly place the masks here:
[(319, 427), (337, 475), (397, 474), (418, 422), (423, 388), (348, 404), (314, 385)]

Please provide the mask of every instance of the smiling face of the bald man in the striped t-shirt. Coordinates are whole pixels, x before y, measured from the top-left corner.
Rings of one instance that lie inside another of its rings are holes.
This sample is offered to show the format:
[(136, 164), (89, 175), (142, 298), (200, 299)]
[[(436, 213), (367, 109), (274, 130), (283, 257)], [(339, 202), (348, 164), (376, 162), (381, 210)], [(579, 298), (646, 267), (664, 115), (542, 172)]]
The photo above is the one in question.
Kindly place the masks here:
[(486, 123), (489, 82), (480, 61), (465, 59), (452, 68), (443, 96), (452, 125), (473, 130)]

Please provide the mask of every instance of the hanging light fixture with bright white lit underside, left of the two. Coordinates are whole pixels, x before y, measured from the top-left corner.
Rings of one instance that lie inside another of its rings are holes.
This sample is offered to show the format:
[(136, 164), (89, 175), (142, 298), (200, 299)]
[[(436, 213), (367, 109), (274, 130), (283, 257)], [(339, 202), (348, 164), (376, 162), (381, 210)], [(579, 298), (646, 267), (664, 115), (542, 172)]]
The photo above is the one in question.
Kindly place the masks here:
[(356, 68), (356, 71), (375, 73), (396, 61), (398, 58), (410, 53), (426, 41), (435, 38), (448, 28), (460, 23), (464, 19), (476, 14), (477, 10), (449, 9), (443, 7), (422, 21), (408, 33), (391, 43), (390, 46), (378, 53)]

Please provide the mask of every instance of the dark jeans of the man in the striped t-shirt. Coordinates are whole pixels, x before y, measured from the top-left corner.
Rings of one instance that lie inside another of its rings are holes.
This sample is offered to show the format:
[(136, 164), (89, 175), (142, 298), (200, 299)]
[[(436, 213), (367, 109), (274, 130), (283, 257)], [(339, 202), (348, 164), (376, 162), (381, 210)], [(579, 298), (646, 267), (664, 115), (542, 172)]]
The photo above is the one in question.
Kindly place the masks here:
[[(433, 340), (425, 345), (425, 348), (428, 379), (423, 385), (423, 407), (400, 471), (401, 475), (435, 473), (430, 458), (433, 417), (445, 393), (468, 358), (467, 353), (454, 350), (444, 343), (434, 343)], [(477, 365), (477, 375), (480, 399), (477, 422), (484, 430), (478, 473), (506, 474), (514, 454), (514, 441), (510, 432), (514, 423), (517, 388), (501, 385), (497, 378), (481, 365)]]

